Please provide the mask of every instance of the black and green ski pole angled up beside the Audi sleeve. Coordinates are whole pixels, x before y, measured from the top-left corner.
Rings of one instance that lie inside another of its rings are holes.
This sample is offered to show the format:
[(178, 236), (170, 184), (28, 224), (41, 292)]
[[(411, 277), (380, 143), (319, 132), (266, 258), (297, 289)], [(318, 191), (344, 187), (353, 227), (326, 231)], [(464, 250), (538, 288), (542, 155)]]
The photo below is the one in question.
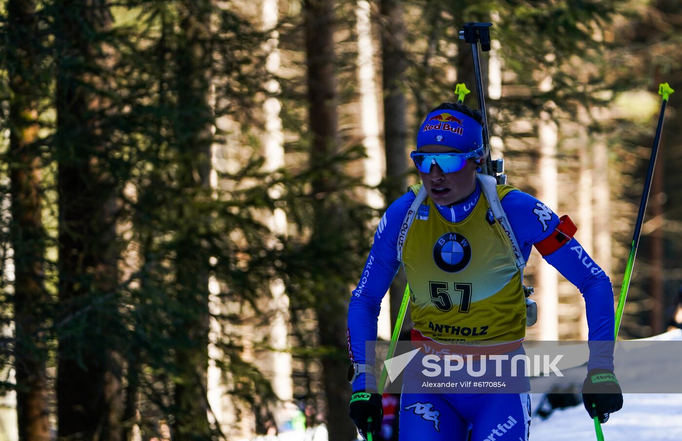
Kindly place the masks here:
[(627, 297), (627, 289), (630, 286), (630, 278), (632, 277), (632, 267), (635, 263), (635, 256), (637, 254), (637, 246), (639, 245), (640, 233), (642, 232), (642, 222), (644, 220), (644, 212), (647, 210), (647, 200), (649, 199), (649, 190), (651, 190), (651, 178), (653, 177), (653, 169), (656, 164), (656, 156), (658, 154), (658, 145), (661, 142), (661, 132), (663, 131), (663, 120), (666, 113), (666, 105), (668, 98), (674, 90), (668, 83), (661, 83), (658, 86), (658, 94), (663, 96), (661, 103), (661, 112), (658, 115), (658, 127), (656, 128), (656, 136), (653, 139), (653, 147), (651, 147), (651, 158), (649, 159), (649, 169), (647, 170), (647, 179), (644, 181), (644, 191), (642, 192), (642, 201), (640, 201), (640, 208), (637, 214), (637, 222), (635, 223), (635, 232), (632, 236), (632, 244), (630, 244), (630, 254), (627, 257), (627, 265), (625, 265), (625, 274), (623, 274), (623, 285), (621, 285), (621, 296), (618, 299), (618, 308), (616, 309), (616, 328), (614, 330), (614, 340), (618, 339), (618, 331), (621, 327), (621, 319), (623, 318), (623, 309), (625, 308), (625, 298)]

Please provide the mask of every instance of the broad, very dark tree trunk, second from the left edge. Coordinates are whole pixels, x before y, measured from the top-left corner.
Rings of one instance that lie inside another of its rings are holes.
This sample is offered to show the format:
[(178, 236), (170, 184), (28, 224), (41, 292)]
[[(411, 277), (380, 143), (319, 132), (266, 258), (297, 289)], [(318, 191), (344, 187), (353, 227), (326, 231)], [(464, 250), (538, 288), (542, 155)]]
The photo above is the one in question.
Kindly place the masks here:
[[(106, 49), (95, 46), (112, 22), (103, 0), (57, 2), (57, 161), (59, 194), (60, 438), (120, 440), (117, 355), (116, 179), (109, 169), (102, 96)], [(103, 50), (104, 49), (104, 50)], [(93, 62), (94, 61), (94, 62)], [(92, 86), (92, 87), (90, 87)], [(84, 332), (87, 330), (87, 332)]]

